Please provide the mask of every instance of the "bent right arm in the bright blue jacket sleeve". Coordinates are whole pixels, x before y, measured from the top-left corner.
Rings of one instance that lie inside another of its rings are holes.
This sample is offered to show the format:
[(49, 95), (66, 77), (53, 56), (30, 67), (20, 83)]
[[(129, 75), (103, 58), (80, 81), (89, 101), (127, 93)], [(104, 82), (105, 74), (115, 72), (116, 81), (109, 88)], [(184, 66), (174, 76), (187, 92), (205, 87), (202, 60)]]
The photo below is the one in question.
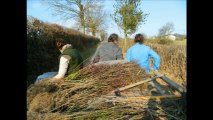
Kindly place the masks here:
[(152, 48), (150, 48), (149, 56), (154, 61), (154, 65), (153, 65), (154, 66), (154, 71), (157, 71), (159, 69), (159, 66), (160, 66), (160, 57), (159, 57), (159, 55), (154, 50), (152, 50)]

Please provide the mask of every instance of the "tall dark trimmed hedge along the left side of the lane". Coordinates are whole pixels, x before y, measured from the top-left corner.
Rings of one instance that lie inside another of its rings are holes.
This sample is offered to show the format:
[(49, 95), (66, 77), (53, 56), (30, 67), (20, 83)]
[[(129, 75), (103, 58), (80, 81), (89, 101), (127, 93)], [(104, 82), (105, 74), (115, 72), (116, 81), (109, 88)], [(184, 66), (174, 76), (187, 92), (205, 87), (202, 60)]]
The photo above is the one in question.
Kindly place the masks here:
[[(99, 39), (57, 24), (44, 23), (27, 17), (27, 85), (44, 72), (58, 71), (60, 52), (55, 46), (56, 38), (62, 38), (81, 53), (94, 48)], [(87, 55), (89, 56), (89, 55)], [(86, 59), (87, 56), (83, 56)]]

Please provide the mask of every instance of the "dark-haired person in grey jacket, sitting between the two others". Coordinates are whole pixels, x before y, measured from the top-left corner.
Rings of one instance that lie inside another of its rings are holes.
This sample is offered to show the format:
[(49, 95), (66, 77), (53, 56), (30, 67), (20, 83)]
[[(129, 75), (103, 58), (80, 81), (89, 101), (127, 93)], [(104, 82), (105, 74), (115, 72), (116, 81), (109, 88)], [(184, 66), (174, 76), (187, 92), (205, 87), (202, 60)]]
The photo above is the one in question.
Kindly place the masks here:
[(123, 54), (122, 50), (118, 47), (118, 36), (117, 34), (111, 34), (107, 43), (102, 43), (93, 59), (92, 63), (110, 60), (122, 60)]

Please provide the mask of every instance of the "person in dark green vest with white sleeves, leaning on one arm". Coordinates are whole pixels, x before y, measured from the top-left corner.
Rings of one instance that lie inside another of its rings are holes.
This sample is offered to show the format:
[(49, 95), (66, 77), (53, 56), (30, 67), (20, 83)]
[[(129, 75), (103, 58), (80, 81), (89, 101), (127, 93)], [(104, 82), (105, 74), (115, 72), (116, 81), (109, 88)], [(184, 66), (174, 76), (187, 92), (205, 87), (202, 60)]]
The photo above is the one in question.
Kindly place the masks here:
[(65, 75), (71, 74), (83, 68), (83, 58), (78, 50), (73, 49), (71, 44), (66, 44), (62, 39), (56, 40), (56, 46), (61, 52), (59, 56), (59, 70), (58, 72), (47, 72), (38, 76), (37, 81), (45, 78), (61, 79)]

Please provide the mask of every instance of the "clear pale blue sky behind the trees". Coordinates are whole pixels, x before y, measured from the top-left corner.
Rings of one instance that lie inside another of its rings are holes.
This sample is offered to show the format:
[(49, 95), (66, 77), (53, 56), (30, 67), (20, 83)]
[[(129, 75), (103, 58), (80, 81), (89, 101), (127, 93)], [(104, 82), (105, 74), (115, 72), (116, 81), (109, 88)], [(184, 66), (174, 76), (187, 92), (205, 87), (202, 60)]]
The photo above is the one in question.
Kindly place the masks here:
[[(114, 0), (103, 0), (104, 11), (107, 13), (106, 17), (106, 31), (108, 34), (117, 33), (123, 37), (123, 31), (111, 19), (110, 14), (113, 14)], [(140, 6), (144, 13), (148, 13), (147, 21), (138, 27), (138, 30), (129, 37), (134, 37), (137, 33), (143, 33), (147, 37), (158, 35), (160, 27), (167, 22), (174, 24), (174, 32), (179, 34), (186, 34), (186, 0), (142, 0)], [(65, 21), (61, 16), (54, 16), (53, 11), (48, 4), (42, 0), (27, 0), (27, 15), (33, 16), (44, 22), (56, 23), (64, 27), (76, 27), (75, 20)]]

